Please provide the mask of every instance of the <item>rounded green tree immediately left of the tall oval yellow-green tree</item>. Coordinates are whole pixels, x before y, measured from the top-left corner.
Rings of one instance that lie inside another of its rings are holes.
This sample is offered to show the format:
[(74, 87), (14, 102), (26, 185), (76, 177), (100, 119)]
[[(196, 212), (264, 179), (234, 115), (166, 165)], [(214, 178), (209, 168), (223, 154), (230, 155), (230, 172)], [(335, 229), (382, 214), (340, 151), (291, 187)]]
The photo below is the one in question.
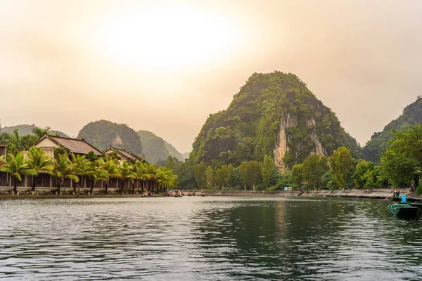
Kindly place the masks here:
[(312, 154), (303, 162), (303, 177), (314, 190), (322, 183), (322, 176), (328, 171), (327, 157)]

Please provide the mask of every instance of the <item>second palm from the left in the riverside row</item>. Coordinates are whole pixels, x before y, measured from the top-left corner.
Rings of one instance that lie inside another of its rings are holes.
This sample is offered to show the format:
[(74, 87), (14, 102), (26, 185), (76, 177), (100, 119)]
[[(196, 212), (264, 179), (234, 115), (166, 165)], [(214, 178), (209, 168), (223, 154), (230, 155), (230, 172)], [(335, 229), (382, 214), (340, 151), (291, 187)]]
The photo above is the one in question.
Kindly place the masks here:
[(36, 148), (34, 146), (30, 148), (30, 151), (27, 156), (28, 170), (26, 171), (26, 174), (34, 176), (31, 190), (32, 192), (34, 192), (35, 188), (37, 187), (39, 173), (45, 173), (49, 175), (53, 174), (53, 159), (46, 155), (42, 148)]

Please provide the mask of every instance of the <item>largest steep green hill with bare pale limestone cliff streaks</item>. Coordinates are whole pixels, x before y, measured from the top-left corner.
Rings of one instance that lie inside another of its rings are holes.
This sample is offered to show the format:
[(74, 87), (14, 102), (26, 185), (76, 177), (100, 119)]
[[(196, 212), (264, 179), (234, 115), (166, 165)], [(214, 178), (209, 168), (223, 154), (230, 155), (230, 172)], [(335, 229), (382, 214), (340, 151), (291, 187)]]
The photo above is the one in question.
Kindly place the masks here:
[(295, 74), (252, 74), (227, 110), (210, 115), (193, 143), (190, 159), (212, 166), (264, 159), (279, 169), (302, 163), (312, 152), (332, 155), (346, 146), (356, 158), (362, 149), (335, 114)]

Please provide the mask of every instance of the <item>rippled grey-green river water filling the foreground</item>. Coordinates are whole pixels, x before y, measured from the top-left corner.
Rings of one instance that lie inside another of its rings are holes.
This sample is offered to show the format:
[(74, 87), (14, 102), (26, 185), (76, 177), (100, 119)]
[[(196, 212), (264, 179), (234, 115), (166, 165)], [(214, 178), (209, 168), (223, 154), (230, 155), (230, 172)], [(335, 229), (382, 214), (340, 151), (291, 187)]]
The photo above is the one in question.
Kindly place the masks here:
[(384, 200), (0, 200), (0, 279), (421, 280), (422, 221)]

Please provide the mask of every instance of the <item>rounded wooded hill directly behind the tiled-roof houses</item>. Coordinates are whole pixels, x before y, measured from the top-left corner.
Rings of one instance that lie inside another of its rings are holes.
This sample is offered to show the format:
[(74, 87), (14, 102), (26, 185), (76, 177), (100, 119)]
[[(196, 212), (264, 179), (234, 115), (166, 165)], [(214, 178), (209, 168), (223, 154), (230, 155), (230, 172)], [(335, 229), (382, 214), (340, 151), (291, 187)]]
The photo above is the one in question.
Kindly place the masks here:
[(143, 155), (138, 134), (126, 124), (117, 124), (107, 120), (90, 122), (79, 131), (77, 138), (84, 138), (99, 150), (113, 145), (116, 148), (132, 151), (136, 155)]

